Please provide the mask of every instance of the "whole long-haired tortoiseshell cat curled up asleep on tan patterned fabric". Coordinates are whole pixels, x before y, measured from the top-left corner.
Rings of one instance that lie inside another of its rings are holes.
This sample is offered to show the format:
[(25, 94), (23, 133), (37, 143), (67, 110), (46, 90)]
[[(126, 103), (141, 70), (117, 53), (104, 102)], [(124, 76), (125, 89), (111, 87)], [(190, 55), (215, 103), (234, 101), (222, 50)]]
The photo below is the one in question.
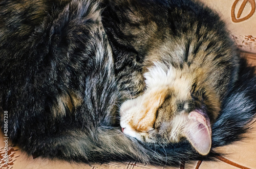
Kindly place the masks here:
[(0, 2), (0, 112), (34, 157), (177, 165), (256, 112), (254, 67), (190, 0)]

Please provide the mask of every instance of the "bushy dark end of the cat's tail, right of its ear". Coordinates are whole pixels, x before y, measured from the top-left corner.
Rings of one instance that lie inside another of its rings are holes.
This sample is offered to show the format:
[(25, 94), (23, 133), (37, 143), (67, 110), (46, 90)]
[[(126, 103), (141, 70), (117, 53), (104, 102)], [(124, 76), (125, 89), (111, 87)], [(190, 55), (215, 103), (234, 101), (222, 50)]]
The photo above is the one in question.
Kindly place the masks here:
[(212, 147), (225, 146), (243, 138), (255, 122), (256, 67), (241, 60), (239, 79), (224, 101), (222, 113), (212, 127)]

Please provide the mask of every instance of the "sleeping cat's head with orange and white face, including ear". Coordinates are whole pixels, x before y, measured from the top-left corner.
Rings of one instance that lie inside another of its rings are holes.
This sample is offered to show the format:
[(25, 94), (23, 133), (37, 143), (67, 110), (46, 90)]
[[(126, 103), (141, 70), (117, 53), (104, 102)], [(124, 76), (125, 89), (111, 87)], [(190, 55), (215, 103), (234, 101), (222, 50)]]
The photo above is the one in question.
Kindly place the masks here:
[(121, 105), (123, 133), (154, 144), (186, 138), (198, 153), (207, 155), (211, 148), (211, 116), (191, 93), (195, 77), (160, 63), (148, 69), (144, 77), (145, 92)]

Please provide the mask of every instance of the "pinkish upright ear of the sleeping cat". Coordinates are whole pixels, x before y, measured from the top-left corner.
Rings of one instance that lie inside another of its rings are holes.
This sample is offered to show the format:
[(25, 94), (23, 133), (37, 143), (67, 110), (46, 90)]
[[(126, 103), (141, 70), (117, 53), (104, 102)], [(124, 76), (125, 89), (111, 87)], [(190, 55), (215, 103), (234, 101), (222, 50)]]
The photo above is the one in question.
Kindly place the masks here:
[(210, 152), (211, 127), (206, 113), (200, 110), (190, 112), (188, 123), (184, 126), (184, 134), (199, 154), (207, 155)]

